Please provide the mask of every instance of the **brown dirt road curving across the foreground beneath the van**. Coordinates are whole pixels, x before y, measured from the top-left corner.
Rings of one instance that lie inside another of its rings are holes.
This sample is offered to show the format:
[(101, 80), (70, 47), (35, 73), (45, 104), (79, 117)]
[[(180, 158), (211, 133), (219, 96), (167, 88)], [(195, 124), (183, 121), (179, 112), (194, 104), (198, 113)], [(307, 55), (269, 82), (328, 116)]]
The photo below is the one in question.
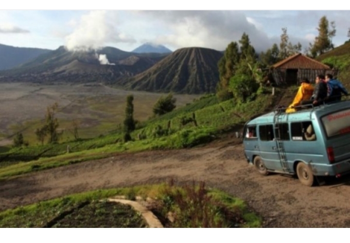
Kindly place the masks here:
[(261, 176), (249, 166), (239, 143), (151, 151), (88, 161), (0, 184), (0, 210), (70, 193), (167, 181), (205, 181), (246, 200), (264, 227), (350, 227), (350, 177), (308, 188), (297, 178)]

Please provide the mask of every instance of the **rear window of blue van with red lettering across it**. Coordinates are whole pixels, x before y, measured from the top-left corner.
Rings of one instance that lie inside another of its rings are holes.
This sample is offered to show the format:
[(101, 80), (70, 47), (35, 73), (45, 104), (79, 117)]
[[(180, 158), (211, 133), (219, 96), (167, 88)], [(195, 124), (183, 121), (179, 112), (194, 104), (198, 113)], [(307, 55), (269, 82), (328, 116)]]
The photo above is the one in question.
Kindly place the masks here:
[(322, 119), (327, 137), (350, 133), (350, 109), (334, 112)]

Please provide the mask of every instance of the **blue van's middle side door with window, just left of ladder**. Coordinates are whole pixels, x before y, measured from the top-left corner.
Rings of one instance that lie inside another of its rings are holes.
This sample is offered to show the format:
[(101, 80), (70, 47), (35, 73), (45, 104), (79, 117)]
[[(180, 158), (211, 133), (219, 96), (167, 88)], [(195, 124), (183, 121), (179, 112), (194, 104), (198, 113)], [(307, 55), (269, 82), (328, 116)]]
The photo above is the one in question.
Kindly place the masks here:
[(259, 148), (268, 170), (280, 170), (280, 156), (275, 141), (273, 124), (259, 125)]

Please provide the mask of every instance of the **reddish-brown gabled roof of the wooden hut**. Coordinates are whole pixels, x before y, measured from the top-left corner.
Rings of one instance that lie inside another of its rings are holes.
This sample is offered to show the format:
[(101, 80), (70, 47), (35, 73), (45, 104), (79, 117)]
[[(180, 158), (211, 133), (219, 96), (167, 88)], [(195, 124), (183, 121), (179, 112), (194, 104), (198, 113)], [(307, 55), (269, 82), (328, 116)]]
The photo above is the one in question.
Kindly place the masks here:
[(272, 66), (274, 69), (331, 69), (329, 66), (297, 53)]

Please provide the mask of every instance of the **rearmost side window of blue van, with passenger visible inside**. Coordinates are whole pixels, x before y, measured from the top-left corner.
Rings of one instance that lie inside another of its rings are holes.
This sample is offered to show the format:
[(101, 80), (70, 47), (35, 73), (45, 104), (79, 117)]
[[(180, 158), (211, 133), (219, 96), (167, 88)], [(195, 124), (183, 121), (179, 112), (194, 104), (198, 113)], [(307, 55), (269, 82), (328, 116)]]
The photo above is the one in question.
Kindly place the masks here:
[(293, 141), (315, 141), (316, 135), (311, 121), (291, 123)]

